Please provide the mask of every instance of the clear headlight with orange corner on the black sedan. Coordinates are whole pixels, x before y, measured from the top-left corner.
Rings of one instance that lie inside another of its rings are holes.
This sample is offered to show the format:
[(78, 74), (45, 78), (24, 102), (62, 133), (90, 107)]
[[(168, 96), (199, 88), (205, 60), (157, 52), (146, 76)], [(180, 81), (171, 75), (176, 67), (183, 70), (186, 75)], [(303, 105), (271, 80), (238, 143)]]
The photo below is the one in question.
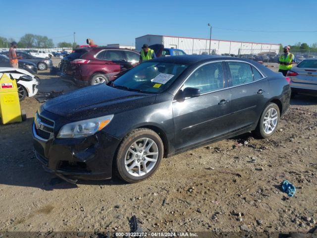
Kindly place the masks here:
[(57, 138), (82, 138), (95, 134), (110, 123), (113, 115), (88, 120), (80, 120), (64, 125)]

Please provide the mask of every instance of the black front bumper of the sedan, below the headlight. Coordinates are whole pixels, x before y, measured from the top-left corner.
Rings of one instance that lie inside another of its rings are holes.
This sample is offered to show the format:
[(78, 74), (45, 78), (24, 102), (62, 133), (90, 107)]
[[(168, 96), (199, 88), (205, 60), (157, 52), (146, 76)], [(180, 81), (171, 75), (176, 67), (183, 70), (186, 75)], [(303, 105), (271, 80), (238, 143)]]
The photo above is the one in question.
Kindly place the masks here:
[(76, 179), (109, 179), (120, 140), (102, 131), (87, 138), (44, 140), (32, 126), (36, 158), (47, 172)]

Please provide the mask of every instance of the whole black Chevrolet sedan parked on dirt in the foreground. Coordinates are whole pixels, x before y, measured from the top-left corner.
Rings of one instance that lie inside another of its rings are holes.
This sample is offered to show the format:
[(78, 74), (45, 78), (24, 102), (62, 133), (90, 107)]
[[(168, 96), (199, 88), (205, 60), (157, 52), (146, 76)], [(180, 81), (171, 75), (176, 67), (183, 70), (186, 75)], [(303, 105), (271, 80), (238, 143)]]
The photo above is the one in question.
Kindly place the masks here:
[(68, 181), (138, 182), (163, 157), (248, 131), (272, 135), (289, 107), (289, 81), (252, 60), (149, 60), (107, 85), (42, 105), (33, 124), (36, 157)]

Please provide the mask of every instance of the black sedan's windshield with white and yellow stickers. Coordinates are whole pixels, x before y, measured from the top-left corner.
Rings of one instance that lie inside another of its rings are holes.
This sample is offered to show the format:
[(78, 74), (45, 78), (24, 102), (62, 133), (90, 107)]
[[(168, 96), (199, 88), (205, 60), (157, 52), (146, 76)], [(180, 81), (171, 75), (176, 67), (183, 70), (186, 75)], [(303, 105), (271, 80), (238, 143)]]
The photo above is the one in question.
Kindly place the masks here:
[(112, 83), (112, 87), (146, 93), (165, 91), (187, 68), (186, 64), (144, 62)]

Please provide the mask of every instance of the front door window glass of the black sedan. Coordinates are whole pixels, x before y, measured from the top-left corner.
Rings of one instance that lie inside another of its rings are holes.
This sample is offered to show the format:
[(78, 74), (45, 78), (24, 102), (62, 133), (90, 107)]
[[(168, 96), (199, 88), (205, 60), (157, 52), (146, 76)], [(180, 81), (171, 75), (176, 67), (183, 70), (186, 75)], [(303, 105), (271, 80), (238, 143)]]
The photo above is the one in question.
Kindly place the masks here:
[(206, 93), (223, 88), (222, 62), (205, 64), (198, 68), (184, 83), (183, 88), (199, 88)]

